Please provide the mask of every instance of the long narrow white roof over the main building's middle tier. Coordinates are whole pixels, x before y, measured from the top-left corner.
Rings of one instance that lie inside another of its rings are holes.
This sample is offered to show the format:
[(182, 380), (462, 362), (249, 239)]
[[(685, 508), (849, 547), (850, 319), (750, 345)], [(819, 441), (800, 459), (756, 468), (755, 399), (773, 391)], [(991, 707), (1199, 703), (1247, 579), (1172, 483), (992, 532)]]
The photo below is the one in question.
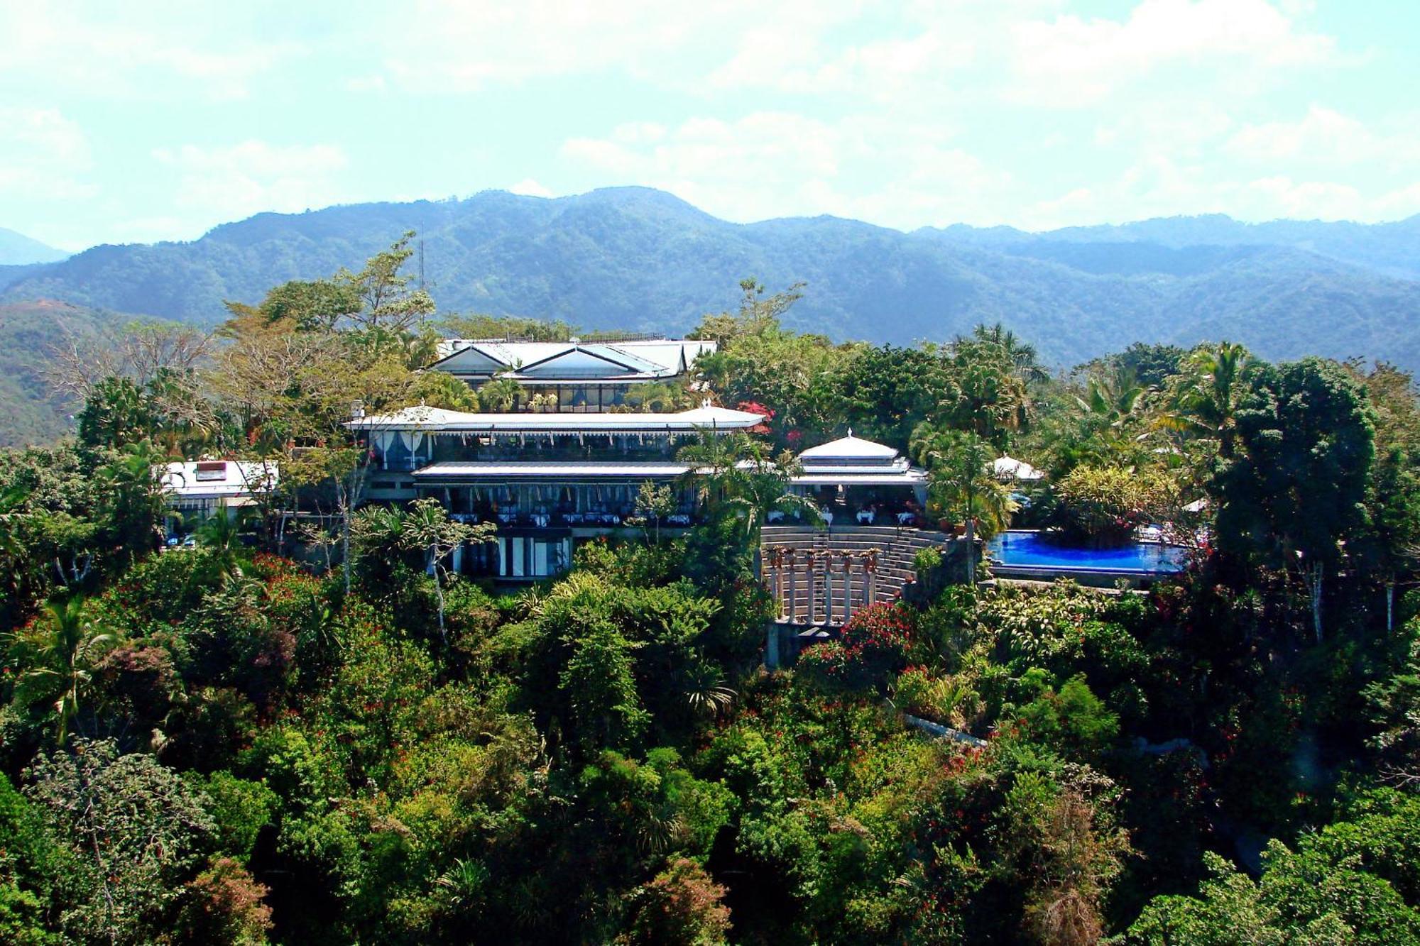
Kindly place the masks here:
[(467, 413), (443, 408), (405, 408), (388, 415), (358, 418), (355, 430), (425, 430), (429, 433), (693, 433), (747, 430), (764, 422), (748, 411), (716, 408), (709, 402), (676, 413)]

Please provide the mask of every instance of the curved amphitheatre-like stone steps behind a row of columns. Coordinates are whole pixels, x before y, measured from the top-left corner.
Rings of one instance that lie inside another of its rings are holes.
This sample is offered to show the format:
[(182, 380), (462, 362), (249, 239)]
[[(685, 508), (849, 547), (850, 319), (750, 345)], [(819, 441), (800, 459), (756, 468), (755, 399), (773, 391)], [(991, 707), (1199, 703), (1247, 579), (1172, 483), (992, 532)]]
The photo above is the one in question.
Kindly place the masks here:
[[(916, 577), (913, 557), (922, 548), (946, 548), (951, 537), (913, 527), (897, 526), (835, 526), (832, 531), (805, 526), (765, 526), (760, 535), (760, 551), (765, 580), (770, 580), (770, 562), (774, 551), (797, 550), (799, 564), (794, 581), (787, 574), (780, 575), (780, 615), (792, 624), (841, 626), (845, 621), (843, 581), (848, 581), (848, 605), (852, 612), (872, 602), (895, 601), (905, 584)], [(812, 567), (804, 561), (804, 553), (814, 551)], [(866, 551), (878, 553), (876, 570), (868, 574), (855, 561), (843, 574), (841, 555), (825, 553)], [(872, 581), (869, 594), (868, 582)], [(826, 607), (825, 587), (832, 594), (832, 607)], [(771, 582), (772, 588), (772, 582)], [(812, 609), (811, 609), (812, 605)]]

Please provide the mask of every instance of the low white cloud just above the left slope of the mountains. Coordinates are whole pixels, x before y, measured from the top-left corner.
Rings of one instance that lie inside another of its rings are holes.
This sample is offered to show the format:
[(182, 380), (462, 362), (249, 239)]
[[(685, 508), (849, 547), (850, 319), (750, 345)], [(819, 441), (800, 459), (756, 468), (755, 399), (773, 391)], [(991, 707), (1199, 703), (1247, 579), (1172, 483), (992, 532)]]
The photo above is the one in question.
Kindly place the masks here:
[(263, 210), (291, 213), (341, 197), (335, 175), (348, 161), (334, 145), (244, 141), (222, 148), (158, 148), (153, 158), (178, 173), (175, 205), (204, 220), (234, 220)]

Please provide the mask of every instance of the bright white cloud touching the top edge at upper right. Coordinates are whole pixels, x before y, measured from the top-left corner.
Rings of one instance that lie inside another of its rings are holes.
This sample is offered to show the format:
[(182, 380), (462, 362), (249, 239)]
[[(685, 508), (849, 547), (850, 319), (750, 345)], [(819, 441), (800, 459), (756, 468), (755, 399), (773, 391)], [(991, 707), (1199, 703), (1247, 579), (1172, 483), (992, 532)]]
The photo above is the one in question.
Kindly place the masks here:
[(1335, 41), (1301, 31), (1295, 13), (1268, 0), (1143, 0), (1125, 20), (1061, 14), (1018, 23), (1011, 95), (1081, 107), (1166, 65), (1230, 61), (1255, 71), (1332, 58)]

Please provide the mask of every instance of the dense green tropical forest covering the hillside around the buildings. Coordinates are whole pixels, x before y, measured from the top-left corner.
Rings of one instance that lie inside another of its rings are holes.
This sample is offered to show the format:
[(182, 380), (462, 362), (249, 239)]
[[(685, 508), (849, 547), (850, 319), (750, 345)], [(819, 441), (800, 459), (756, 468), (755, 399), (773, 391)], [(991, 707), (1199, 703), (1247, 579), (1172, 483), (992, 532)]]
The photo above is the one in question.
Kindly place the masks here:
[[(802, 334), (812, 286), (746, 280), (694, 325), (720, 351), (635, 405), (765, 416), (684, 447), (703, 521), (662, 530), (648, 487), (508, 591), (449, 567), (491, 527), (368, 501), (342, 426), (504, 396), (417, 371), (442, 315), (412, 253), (214, 337), (114, 328), (55, 368), (75, 436), (0, 456), (0, 940), (1420, 939), (1404, 369), (1210, 341), (1052, 375), (994, 324)], [(848, 428), (923, 463), (949, 527), (1170, 523), (1189, 568), (985, 585), (957, 545), (767, 670), (760, 524)], [(1048, 479), (1001, 484), (1004, 452)], [(281, 477), (158, 551), (153, 464), (197, 456)]]

